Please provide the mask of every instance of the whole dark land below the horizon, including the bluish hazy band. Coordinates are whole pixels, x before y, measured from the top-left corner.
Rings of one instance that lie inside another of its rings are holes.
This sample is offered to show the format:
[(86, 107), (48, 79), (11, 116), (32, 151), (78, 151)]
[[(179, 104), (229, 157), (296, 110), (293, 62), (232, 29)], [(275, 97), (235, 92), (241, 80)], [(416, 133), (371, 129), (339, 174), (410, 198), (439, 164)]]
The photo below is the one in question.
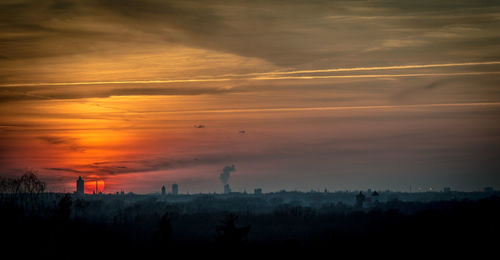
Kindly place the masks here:
[[(304, 200), (297, 199), (301, 196)], [(479, 256), (498, 247), (500, 199), (495, 195), (393, 199), (362, 207), (311, 204), (310, 196), (4, 194), (2, 252), (66, 259), (199, 253), (237, 258), (270, 251)]]

